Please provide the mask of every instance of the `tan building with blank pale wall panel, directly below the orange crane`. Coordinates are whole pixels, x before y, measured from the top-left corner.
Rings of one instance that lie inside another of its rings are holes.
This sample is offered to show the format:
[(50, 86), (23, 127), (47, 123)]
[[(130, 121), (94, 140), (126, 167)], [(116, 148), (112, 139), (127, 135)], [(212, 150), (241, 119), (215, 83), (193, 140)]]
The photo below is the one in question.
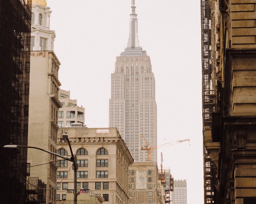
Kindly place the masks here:
[(162, 203), (164, 192), (158, 183), (157, 162), (134, 162), (129, 167), (129, 175), (129, 203)]

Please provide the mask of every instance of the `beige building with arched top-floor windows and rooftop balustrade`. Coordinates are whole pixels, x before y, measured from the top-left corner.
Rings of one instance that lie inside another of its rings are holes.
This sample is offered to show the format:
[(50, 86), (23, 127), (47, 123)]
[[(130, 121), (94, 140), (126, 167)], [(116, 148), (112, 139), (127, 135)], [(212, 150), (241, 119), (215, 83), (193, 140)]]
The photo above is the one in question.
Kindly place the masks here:
[[(77, 155), (77, 190), (90, 189), (92, 194), (100, 194), (105, 199), (104, 203), (127, 204), (128, 168), (133, 163), (133, 158), (117, 129), (72, 125), (60, 128), (58, 153), (71, 155), (68, 144), (62, 140), (63, 133), (68, 134), (72, 151)], [(72, 162), (57, 163), (57, 182), (60, 182), (57, 186), (57, 200), (65, 200), (67, 194), (73, 195)]]

